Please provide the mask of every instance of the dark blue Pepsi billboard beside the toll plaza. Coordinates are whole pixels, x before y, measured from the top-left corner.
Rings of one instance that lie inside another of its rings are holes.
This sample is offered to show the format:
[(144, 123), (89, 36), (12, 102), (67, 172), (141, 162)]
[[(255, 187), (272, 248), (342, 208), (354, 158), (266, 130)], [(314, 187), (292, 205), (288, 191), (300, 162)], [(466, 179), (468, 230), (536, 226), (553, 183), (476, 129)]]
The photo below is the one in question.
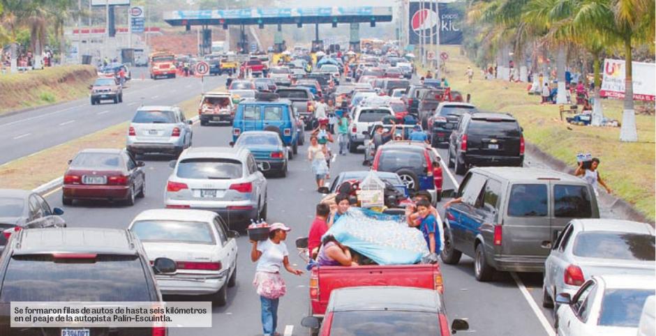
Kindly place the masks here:
[(438, 31), (440, 32), (440, 45), (459, 45), (462, 43), (463, 32), (461, 28), (464, 4), (458, 2), (439, 3), (439, 7), (435, 8), (435, 2), (412, 1), (408, 3), (410, 45), (419, 44), (421, 39), (419, 34), (422, 32), (425, 36), (424, 43), (437, 44)]

